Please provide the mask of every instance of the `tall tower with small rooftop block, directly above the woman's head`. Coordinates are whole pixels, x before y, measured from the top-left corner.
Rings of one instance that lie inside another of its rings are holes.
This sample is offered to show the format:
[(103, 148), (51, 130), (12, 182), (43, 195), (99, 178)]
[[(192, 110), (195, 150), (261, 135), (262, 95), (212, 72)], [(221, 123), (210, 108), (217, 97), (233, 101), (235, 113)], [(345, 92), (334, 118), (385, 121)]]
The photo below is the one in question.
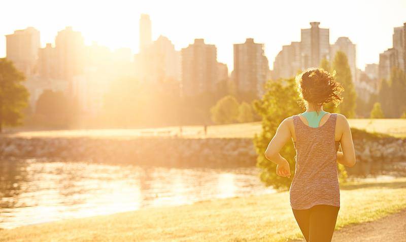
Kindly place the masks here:
[(330, 60), (330, 34), (328, 28), (320, 28), (320, 22), (311, 22), (311, 28), (301, 29), (302, 68), (318, 67), (323, 58)]

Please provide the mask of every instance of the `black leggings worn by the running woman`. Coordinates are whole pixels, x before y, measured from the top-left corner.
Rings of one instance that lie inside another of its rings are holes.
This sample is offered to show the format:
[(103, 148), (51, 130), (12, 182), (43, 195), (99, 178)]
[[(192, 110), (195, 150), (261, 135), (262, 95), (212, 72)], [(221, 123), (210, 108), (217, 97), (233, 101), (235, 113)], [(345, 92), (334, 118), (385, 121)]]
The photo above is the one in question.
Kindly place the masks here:
[(307, 242), (328, 242), (333, 236), (340, 207), (316, 205), (310, 209), (292, 209), (301, 233)]

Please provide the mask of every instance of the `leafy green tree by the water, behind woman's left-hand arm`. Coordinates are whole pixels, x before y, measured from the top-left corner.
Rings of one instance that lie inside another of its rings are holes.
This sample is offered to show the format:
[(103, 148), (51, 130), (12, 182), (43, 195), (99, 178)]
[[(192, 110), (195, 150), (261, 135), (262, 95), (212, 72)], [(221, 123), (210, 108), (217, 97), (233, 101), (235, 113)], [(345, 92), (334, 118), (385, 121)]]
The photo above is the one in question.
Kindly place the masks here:
[[(289, 187), (291, 179), (280, 177), (276, 174), (276, 164), (270, 162), (264, 155), (269, 141), (274, 137), (279, 124), (287, 117), (302, 112), (298, 105), (299, 95), (296, 89), (295, 79), (279, 79), (275, 82), (268, 81), (265, 84), (265, 94), (261, 100), (254, 102), (254, 108), (262, 117), (262, 131), (254, 137), (254, 145), (257, 157), (257, 167), (261, 168), (260, 179), (266, 186), (274, 186), (277, 189)], [(296, 151), (293, 142), (288, 142), (281, 150), (294, 173)]]

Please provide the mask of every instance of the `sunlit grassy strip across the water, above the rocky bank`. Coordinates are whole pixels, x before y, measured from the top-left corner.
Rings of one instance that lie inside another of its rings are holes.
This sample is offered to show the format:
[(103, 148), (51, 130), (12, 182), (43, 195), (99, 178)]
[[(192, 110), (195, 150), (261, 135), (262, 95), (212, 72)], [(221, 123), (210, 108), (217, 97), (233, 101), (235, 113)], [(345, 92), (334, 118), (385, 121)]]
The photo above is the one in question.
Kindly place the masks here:
[[(389, 134), (395, 137), (406, 137), (406, 119), (349, 119), (352, 128), (364, 129), (368, 132)], [(261, 123), (244, 123), (231, 125), (214, 125), (204, 135), (202, 126), (184, 126), (182, 134), (188, 138), (252, 138), (261, 131)], [(179, 127), (156, 129), (93, 129), (93, 130), (56, 130), (56, 131), (25, 131), (11, 134), (21, 137), (115, 137), (129, 138), (139, 136), (176, 136), (180, 135)]]

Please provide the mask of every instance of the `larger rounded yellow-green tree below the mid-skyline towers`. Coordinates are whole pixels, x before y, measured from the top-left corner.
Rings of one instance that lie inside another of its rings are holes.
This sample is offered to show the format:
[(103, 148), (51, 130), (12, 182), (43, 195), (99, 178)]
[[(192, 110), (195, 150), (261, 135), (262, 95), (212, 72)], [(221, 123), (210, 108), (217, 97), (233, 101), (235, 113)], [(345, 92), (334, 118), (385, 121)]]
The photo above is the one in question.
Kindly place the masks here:
[(235, 122), (239, 114), (239, 103), (231, 95), (225, 96), (214, 105), (210, 112), (212, 120), (216, 124), (231, 124)]

